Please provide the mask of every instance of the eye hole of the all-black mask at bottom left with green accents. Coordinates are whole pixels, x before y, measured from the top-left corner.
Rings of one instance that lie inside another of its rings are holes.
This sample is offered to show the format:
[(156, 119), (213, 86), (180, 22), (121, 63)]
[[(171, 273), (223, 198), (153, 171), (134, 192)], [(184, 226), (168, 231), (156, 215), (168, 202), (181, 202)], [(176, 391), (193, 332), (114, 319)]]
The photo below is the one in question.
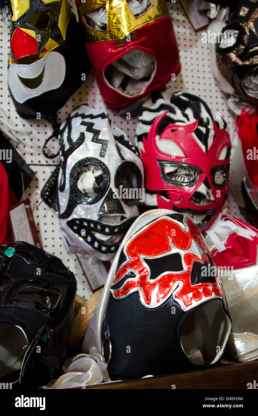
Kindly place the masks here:
[(16, 292), (15, 298), (27, 302), (36, 302), (48, 309), (54, 309), (58, 304), (60, 293), (50, 292), (35, 286), (26, 286)]

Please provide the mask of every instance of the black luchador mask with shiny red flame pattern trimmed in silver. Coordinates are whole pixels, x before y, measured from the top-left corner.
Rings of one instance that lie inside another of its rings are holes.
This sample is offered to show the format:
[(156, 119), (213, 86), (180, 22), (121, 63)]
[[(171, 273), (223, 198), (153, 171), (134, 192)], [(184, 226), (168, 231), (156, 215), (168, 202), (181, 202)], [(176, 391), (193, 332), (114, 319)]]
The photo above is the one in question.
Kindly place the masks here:
[(186, 215), (141, 215), (113, 260), (83, 352), (97, 347), (111, 379), (218, 363), (231, 324), (220, 277), (209, 277), (211, 265), (203, 235)]

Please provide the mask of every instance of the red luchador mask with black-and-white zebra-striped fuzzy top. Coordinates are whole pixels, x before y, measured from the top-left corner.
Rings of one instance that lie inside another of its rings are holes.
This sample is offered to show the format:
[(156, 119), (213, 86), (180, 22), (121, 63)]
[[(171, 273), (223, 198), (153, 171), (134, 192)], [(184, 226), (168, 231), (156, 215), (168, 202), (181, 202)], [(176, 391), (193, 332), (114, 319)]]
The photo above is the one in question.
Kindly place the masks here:
[[(164, 96), (165, 97), (165, 96)], [(140, 110), (136, 140), (145, 167), (145, 205), (185, 213), (206, 230), (228, 198), (230, 138), (199, 97), (153, 94)]]

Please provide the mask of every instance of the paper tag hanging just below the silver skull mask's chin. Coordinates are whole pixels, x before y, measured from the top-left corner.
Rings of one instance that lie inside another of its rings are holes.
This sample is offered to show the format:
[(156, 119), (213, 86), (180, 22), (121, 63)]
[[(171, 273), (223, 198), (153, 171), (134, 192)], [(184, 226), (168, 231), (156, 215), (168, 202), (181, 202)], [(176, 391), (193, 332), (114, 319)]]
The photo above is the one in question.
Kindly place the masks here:
[(83, 269), (83, 274), (90, 286), (92, 292), (100, 289), (105, 285), (108, 277), (108, 271), (111, 263), (109, 261), (102, 262), (97, 260), (95, 264), (88, 263), (85, 259), (76, 256), (80, 267)]

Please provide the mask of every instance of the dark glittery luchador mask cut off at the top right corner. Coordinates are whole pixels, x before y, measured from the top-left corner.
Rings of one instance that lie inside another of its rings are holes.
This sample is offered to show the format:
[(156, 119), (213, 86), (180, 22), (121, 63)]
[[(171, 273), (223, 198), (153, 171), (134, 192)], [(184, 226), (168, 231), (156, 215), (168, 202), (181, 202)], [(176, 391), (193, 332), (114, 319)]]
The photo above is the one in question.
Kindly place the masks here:
[(216, 46), (223, 76), (245, 100), (258, 104), (258, 1), (240, 0)]

